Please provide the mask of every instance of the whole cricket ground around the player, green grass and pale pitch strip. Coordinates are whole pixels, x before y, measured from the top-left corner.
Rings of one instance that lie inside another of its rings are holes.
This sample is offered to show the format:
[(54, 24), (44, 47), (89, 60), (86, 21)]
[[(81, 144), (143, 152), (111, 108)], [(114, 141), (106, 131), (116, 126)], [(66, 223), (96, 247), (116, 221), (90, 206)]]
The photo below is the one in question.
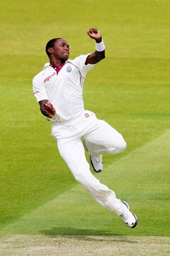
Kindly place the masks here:
[[(170, 255), (170, 1), (0, 3), (0, 255)], [(85, 108), (127, 141), (94, 175), (129, 202), (134, 230), (74, 180), (32, 95), (46, 42), (65, 38), (70, 58), (92, 52), (91, 27), (106, 59), (87, 74)]]

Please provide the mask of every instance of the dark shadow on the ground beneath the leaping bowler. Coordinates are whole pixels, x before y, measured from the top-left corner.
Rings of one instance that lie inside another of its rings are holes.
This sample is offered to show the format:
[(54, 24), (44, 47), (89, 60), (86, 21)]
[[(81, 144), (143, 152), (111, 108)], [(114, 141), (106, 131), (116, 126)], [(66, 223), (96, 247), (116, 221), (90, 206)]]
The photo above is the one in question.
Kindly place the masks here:
[(40, 230), (39, 232), (45, 236), (65, 236), (69, 238), (73, 237), (73, 239), (77, 240), (104, 240), (120, 243), (136, 243), (135, 241), (133, 241), (133, 239), (129, 239), (126, 236), (122, 236), (120, 234), (111, 234), (109, 231), (104, 230), (80, 229), (73, 227), (55, 227), (50, 230)]

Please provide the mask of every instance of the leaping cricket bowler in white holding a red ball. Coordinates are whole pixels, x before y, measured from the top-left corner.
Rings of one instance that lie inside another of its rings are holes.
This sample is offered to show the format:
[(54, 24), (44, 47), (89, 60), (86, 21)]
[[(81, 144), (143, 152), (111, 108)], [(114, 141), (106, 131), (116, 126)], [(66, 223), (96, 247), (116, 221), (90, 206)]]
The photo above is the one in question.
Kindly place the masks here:
[[(57, 140), (60, 156), (66, 161), (74, 178), (90, 195), (111, 212), (115, 212), (131, 228), (136, 227), (136, 215), (115, 192), (101, 184), (85, 157), (96, 172), (103, 170), (103, 154), (117, 154), (125, 150), (122, 135), (84, 109), (83, 81), (87, 72), (105, 58), (101, 33), (90, 28), (87, 34), (95, 40), (96, 51), (69, 60), (69, 45), (63, 38), (54, 38), (46, 44), (50, 63), (33, 79), (33, 92), (40, 110), (52, 122), (52, 136)], [(81, 139), (83, 138), (83, 143)]]

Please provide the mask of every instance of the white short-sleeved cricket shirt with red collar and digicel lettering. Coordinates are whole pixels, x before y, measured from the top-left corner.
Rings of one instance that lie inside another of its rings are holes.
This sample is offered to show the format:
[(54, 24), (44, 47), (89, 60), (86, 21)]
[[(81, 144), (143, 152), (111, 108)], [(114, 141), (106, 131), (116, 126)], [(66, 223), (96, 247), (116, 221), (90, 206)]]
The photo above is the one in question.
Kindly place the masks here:
[(37, 101), (46, 99), (56, 110), (55, 116), (50, 119), (52, 122), (70, 120), (83, 113), (83, 81), (87, 71), (94, 67), (85, 65), (89, 54), (67, 60), (58, 74), (50, 63), (46, 63), (33, 78), (33, 92)]

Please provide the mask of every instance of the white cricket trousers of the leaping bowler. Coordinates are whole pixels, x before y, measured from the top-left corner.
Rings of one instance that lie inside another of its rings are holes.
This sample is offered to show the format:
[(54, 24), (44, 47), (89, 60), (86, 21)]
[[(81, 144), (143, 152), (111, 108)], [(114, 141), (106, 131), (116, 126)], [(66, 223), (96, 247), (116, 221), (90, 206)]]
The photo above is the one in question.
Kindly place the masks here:
[(120, 215), (123, 205), (115, 192), (96, 179), (90, 172), (81, 138), (86, 141), (89, 154), (116, 154), (126, 148), (124, 138), (113, 127), (96, 118), (91, 111), (69, 121), (54, 122), (52, 136), (57, 140), (60, 156), (90, 195), (109, 211)]

